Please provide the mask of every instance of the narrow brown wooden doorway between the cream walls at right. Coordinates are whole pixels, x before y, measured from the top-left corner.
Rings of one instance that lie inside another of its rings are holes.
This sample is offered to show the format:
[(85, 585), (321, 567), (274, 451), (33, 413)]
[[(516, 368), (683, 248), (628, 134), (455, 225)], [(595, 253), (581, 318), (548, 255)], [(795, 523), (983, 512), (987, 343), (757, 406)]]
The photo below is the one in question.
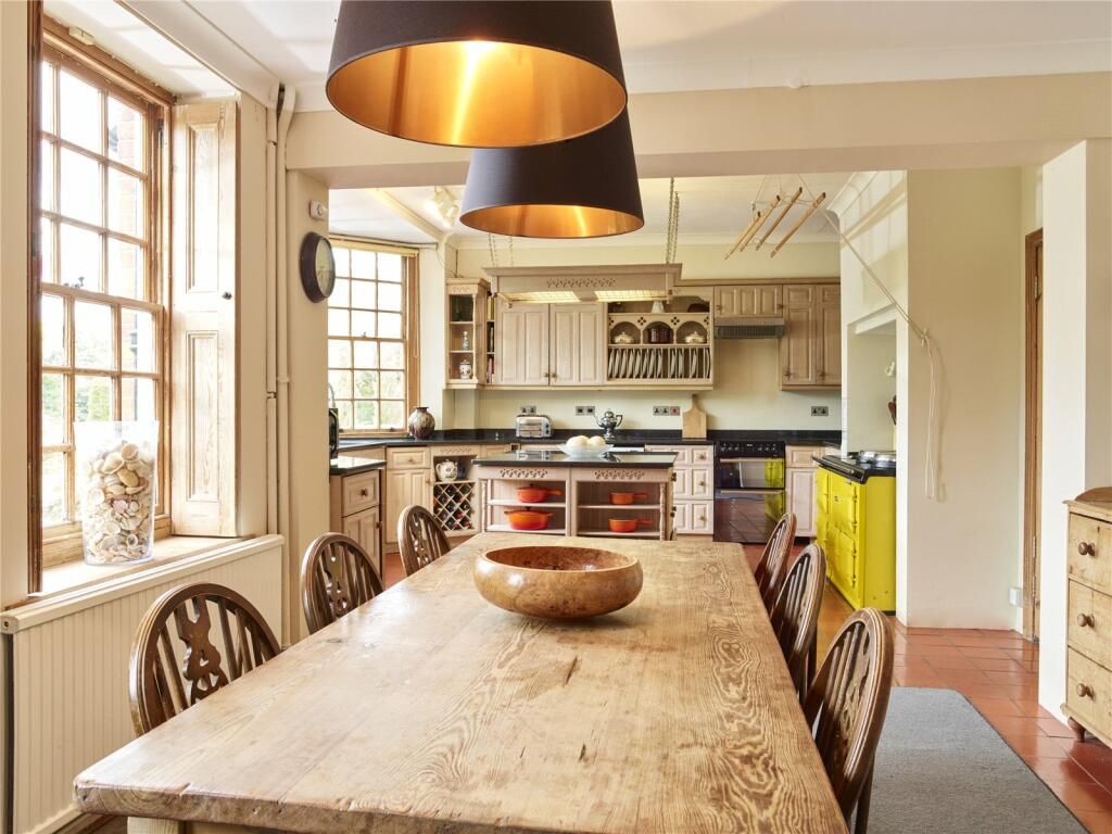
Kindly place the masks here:
[(1042, 549), (1042, 229), (1025, 238), (1026, 381), (1023, 467), (1023, 636), (1039, 639)]

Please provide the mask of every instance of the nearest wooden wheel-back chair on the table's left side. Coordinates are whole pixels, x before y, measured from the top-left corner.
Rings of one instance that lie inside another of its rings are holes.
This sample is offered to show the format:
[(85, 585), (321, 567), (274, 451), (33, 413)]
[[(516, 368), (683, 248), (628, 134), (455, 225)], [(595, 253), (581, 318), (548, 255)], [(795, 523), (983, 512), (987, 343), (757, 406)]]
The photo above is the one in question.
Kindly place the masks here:
[(142, 735), (275, 657), (262, 615), (231, 588), (170, 588), (143, 615), (131, 647), (131, 721)]

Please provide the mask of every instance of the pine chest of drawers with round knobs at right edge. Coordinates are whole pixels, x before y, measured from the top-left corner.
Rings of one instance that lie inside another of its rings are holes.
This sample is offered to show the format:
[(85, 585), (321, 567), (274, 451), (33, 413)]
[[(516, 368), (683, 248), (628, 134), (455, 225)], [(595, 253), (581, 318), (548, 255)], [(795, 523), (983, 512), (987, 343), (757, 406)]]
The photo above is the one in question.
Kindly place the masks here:
[(1070, 507), (1066, 686), (1062, 705), (1079, 738), (1112, 744), (1112, 488)]

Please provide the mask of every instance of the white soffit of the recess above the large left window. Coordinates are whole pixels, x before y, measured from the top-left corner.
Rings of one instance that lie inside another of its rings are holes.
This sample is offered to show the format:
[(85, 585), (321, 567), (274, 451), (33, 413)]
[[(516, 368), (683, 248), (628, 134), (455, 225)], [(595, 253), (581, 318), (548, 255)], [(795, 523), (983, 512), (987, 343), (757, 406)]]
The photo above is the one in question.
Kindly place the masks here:
[[(2, 2), (2, 0), (0, 0)], [(54, 20), (91, 34), (97, 46), (157, 85), (185, 97), (220, 97), (231, 85), (113, 0), (46, 0)]]

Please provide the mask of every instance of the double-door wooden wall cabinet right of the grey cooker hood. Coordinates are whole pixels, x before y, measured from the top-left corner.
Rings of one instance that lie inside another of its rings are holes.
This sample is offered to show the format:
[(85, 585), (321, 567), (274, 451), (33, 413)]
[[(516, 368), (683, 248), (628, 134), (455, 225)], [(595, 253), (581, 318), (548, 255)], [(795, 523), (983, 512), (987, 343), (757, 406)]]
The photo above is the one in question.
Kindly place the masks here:
[(784, 287), (780, 359), (782, 389), (841, 387), (842, 314), (836, 285)]

